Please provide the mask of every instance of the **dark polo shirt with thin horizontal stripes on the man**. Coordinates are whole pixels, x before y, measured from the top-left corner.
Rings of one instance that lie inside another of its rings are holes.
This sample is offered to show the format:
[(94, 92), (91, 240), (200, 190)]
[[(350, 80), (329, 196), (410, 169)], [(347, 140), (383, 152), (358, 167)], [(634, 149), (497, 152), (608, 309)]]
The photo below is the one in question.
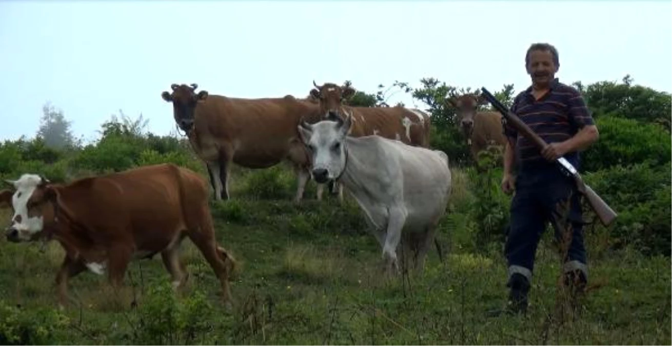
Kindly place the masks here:
[[(532, 95), (532, 87), (521, 91), (513, 100), (511, 112), (547, 143), (562, 142), (583, 126), (593, 125), (593, 117), (581, 93), (557, 78), (551, 82), (550, 91), (538, 100)], [(510, 124), (505, 124), (504, 134), (516, 139), (516, 158), (521, 165), (548, 162), (534, 142), (517, 134)], [(579, 153), (566, 153), (564, 157), (573, 165), (579, 164)]]

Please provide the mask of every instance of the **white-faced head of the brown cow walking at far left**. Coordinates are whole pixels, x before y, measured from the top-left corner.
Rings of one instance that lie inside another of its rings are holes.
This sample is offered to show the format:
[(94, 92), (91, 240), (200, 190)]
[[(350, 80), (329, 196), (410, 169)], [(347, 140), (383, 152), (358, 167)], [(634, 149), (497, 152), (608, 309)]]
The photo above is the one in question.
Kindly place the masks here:
[(11, 206), (14, 210), (5, 236), (14, 243), (35, 241), (54, 218), (50, 202), (56, 200), (56, 191), (40, 175), (24, 174), (19, 180), (5, 181), (14, 187), (14, 191), (0, 191), (0, 207)]

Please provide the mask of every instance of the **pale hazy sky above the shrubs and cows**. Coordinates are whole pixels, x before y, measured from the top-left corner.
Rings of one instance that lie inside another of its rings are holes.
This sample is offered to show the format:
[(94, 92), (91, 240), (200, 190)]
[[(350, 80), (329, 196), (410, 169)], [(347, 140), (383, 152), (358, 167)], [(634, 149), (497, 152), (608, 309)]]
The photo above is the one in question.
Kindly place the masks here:
[(630, 74), (672, 92), (671, 13), (672, 1), (1, 1), (0, 140), (32, 138), (47, 102), (86, 141), (120, 110), (169, 134), (172, 83), (252, 98), (426, 77), (520, 91), (534, 42), (556, 46), (564, 83)]

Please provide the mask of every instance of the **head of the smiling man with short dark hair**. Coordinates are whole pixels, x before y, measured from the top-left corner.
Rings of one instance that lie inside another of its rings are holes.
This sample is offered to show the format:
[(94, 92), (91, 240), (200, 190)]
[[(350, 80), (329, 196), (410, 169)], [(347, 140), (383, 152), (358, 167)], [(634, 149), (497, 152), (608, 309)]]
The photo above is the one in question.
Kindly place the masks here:
[(525, 69), (535, 87), (548, 87), (560, 68), (558, 50), (547, 43), (535, 43), (525, 55)]

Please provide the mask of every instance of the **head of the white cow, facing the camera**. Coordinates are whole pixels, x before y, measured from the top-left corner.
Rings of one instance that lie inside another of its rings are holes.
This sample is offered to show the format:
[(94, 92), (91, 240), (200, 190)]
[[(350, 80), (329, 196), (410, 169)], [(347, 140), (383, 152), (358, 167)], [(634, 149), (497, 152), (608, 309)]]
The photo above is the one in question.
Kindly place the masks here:
[(308, 149), (312, 161), (312, 177), (317, 183), (335, 180), (345, 170), (345, 138), (351, 125), (351, 114), (346, 114), (345, 120), (336, 117), (334, 120), (322, 120), (312, 125), (301, 120), (298, 131), (301, 141)]

